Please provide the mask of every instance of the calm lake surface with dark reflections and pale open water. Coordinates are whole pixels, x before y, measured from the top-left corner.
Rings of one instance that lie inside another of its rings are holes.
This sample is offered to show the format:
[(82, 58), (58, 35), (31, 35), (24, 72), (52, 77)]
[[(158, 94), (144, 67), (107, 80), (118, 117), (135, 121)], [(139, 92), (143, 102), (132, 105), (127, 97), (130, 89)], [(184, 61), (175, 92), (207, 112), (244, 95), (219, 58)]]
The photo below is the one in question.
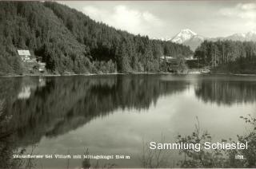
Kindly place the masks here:
[[(222, 140), (242, 135), (256, 115), (256, 77), (109, 75), (0, 78), (6, 153), (130, 155), (99, 165), (142, 167), (143, 142), (174, 143), (197, 123)], [(3, 148), (3, 147), (2, 147)], [(9, 148), (9, 149), (8, 149)], [(3, 153), (3, 151), (2, 151)], [(170, 151), (170, 161), (181, 158)], [(8, 157), (1, 155), (0, 163)], [(82, 167), (82, 159), (35, 159), (33, 167)], [(91, 160), (96, 163), (96, 160)]]

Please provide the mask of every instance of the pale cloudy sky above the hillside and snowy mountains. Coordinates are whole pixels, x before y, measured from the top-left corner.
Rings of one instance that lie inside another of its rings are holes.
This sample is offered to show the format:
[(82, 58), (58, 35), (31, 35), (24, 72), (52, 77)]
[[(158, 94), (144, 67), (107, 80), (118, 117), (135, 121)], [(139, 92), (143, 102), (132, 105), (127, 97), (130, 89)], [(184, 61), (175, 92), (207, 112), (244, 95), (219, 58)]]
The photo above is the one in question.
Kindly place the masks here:
[(98, 22), (150, 38), (191, 29), (203, 37), (256, 31), (256, 1), (64, 1)]

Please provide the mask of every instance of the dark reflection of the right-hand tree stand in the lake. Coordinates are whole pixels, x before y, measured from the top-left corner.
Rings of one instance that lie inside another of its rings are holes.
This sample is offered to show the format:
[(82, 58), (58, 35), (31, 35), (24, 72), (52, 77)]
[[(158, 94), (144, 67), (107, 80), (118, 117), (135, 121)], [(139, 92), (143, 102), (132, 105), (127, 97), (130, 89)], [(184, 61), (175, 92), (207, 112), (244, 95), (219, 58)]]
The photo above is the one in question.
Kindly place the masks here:
[(256, 81), (200, 81), (195, 95), (206, 103), (252, 103), (256, 100)]

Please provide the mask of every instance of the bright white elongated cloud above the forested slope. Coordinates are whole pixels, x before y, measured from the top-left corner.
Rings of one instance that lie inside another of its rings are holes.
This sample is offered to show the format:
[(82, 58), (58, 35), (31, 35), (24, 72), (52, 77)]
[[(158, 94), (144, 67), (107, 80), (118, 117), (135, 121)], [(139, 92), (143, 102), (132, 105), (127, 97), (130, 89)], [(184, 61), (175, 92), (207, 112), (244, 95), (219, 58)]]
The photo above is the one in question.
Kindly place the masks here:
[(126, 30), (135, 34), (149, 34), (152, 29), (159, 29), (164, 22), (148, 11), (139, 11), (119, 5), (110, 9), (102, 9), (95, 6), (84, 6), (83, 13), (98, 22), (104, 22), (109, 26)]

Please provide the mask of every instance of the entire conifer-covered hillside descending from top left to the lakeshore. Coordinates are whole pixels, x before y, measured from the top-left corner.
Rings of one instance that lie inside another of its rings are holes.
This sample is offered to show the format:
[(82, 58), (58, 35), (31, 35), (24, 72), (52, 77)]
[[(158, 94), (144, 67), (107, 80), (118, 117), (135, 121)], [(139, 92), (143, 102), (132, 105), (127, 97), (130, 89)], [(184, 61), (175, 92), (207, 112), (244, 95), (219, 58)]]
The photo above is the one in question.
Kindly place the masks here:
[(0, 73), (22, 74), (17, 49), (46, 62), (49, 73), (165, 70), (160, 57), (189, 56), (185, 45), (150, 40), (95, 22), (56, 2), (0, 2)]

